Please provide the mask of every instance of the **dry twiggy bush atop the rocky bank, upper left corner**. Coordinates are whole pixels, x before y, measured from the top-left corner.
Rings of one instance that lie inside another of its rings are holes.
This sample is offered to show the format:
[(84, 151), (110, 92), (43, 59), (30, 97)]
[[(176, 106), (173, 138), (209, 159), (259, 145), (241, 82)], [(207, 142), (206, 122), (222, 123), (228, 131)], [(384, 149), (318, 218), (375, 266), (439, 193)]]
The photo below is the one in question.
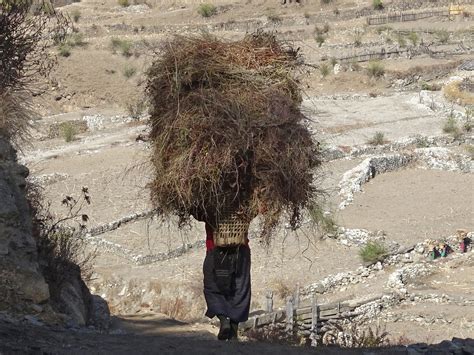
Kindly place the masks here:
[(31, 93), (55, 64), (51, 46), (64, 39), (68, 19), (49, 0), (0, 0), (0, 136), (15, 138), (33, 115)]

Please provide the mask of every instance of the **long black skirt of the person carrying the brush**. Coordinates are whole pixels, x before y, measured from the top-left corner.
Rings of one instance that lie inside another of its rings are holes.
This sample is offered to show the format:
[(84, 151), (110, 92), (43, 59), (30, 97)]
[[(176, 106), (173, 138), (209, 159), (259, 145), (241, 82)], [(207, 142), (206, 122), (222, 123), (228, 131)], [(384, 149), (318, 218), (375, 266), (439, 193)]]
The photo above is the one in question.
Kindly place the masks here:
[(204, 297), (207, 303), (206, 316), (229, 317), (234, 322), (245, 322), (250, 310), (250, 248), (239, 248), (239, 263), (235, 277), (235, 288), (231, 295), (224, 295), (217, 287), (214, 272), (214, 251), (206, 253), (203, 265)]

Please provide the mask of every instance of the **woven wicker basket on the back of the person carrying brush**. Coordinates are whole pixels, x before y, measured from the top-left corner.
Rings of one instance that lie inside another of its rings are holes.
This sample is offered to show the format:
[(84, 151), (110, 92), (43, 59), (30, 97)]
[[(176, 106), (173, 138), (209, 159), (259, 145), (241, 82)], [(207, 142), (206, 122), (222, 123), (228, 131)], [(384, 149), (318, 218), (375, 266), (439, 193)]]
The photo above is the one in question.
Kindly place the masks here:
[(214, 231), (214, 245), (225, 247), (245, 244), (249, 225), (250, 221), (235, 212), (224, 214)]

